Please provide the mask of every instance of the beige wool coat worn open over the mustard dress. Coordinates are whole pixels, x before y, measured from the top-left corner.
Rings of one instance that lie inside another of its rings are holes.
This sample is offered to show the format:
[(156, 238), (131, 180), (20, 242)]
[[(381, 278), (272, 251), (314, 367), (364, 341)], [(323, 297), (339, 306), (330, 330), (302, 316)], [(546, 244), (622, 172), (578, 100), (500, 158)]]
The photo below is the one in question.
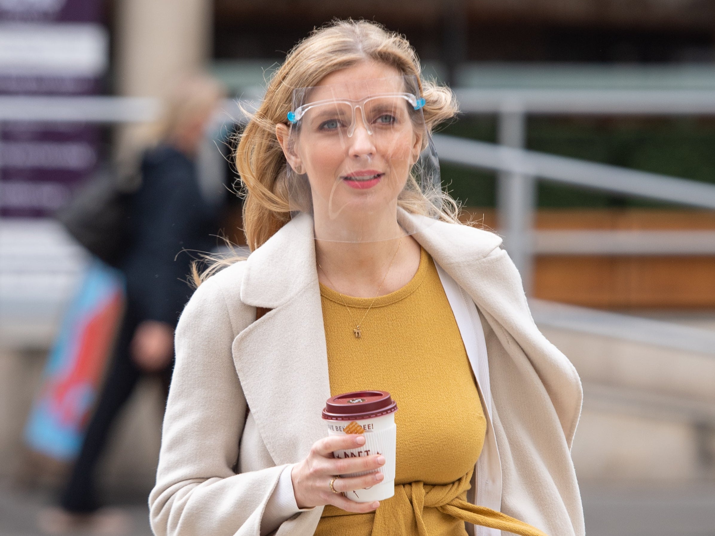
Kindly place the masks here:
[[(310, 231), (308, 217), (287, 224), (209, 278), (184, 309), (149, 496), (158, 536), (258, 536), (282, 469), (326, 435), (320, 411), (330, 385)], [(576, 370), (536, 328), (501, 238), (442, 222), (415, 238), (483, 318), (501, 510), (550, 536), (583, 536), (570, 452), (581, 412)], [(271, 310), (254, 321), (256, 307)], [(321, 513), (301, 512), (277, 535), (312, 535)]]

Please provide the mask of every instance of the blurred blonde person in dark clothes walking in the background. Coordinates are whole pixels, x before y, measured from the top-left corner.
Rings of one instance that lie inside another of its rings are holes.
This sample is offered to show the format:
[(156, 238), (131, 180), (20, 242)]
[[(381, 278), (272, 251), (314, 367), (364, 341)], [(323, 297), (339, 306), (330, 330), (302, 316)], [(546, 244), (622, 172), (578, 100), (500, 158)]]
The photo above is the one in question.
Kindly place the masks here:
[(217, 210), (202, 196), (197, 157), (224, 93), (207, 76), (182, 80), (167, 99), (158, 143), (144, 151), (142, 185), (129, 209), (129, 248), (119, 266), (127, 285), (122, 328), (60, 507), (45, 510), (39, 519), (44, 532), (82, 528), (107, 533), (127, 527), (122, 512), (100, 510), (95, 468), (112, 423), (139, 378), (159, 375), (168, 390), (174, 328), (191, 294), (190, 252), (215, 248)]

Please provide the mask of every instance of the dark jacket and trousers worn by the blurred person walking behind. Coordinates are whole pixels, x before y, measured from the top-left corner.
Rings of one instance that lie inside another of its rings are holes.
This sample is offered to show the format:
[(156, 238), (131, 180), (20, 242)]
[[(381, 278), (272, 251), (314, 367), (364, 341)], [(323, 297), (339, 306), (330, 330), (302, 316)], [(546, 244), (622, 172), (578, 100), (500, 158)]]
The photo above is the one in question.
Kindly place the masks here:
[[(97, 407), (60, 504), (69, 515), (86, 515), (101, 505), (95, 469), (114, 418), (145, 373), (136, 363), (132, 340), (147, 320), (176, 327), (192, 294), (187, 283), (193, 253), (211, 251), (218, 223), (199, 189), (196, 164), (168, 144), (142, 158), (142, 186), (129, 211), (131, 241), (121, 263), (127, 278), (127, 306)], [(183, 251), (189, 250), (189, 252)], [(172, 363), (156, 370), (168, 390)], [(59, 515), (71, 527), (73, 518)]]

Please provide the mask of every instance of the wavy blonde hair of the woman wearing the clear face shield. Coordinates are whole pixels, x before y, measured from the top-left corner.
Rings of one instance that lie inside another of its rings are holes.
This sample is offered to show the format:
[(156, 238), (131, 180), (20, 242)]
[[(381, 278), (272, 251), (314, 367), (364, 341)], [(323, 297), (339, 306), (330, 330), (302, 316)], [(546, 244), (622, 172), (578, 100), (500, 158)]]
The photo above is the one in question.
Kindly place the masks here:
[[(332, 21), (312, 31), (287, 54), (285, 63), (273, 74), (263, 101), (252, 114), (237, 146), (236, 168), (245, 196), (243, 226), (251, 251), (290, 221), (287, 162), (275, 136), (275, 126), (287, 123), (293, 90), (317, 86), (328, 74), (363, 61), (375, 61), (393, 67), (403, 76), (417, 77), (425, 99), (423, 115), (429, 132), (458, 112), (456, 98), (449, 88), (421, 79), (420, 61), (404, 36), (362, 20)], [(458, 204), (442, 191), (430, 194), (435, 195), (441, 198), (440, 219), (458, 223)], [(433, 205), (433, 200), (429, 203)], [(414, 198), (399, 204), (410, 213), (419, 205)], [(217, 260), (199, 277), (204, 279), (235, 260), (234, 257)]]

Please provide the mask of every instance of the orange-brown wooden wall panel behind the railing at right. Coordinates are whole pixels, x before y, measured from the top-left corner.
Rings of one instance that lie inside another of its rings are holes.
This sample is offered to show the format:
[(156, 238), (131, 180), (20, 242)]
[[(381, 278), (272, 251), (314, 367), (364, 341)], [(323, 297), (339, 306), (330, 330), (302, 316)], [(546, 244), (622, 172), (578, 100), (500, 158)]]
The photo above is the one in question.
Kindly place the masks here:
[[(495, 228), (493, 209), (465, 218)], [(715, 212), (654, 209), (541, 210), (540, 229), (715, 230)], [(538, 256), (534, 295), (596, 308), (715, 308), (715, 256)]]

